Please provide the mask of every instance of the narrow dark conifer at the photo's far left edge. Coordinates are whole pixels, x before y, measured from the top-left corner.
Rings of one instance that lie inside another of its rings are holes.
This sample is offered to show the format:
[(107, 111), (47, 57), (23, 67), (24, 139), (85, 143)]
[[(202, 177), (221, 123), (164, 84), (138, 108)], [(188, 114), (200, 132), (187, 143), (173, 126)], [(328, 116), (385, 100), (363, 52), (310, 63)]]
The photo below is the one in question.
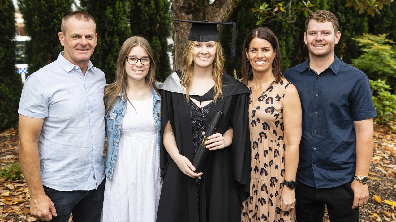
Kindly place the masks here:
[(0, 130), (18, 120), (21, 75), (15, 69), (15, 8), (12, 0), (0, 1)]

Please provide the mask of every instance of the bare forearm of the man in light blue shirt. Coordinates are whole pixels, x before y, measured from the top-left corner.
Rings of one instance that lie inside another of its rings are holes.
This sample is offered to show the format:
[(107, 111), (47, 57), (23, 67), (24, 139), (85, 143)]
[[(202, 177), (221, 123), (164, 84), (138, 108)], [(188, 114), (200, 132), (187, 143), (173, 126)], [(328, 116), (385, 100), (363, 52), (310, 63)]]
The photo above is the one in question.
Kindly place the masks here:
[(29, 193), (32, 198), (44, 194), (44, 189), (40, 176), (40, 158), (38, 155), (38, 143), (29, 139), (19, 140), (19, 161), (21, 162), (22, 173)]

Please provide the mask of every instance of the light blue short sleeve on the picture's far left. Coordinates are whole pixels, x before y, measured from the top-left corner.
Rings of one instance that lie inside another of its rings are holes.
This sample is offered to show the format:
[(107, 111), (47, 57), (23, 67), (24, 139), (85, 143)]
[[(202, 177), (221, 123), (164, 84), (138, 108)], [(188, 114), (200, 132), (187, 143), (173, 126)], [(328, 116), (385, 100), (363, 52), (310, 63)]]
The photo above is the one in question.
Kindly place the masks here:
[(18, 113), (27, 117), (48, 117), (48, 97), (44, 85), (37, 76), (31, 75), (23, 85)]

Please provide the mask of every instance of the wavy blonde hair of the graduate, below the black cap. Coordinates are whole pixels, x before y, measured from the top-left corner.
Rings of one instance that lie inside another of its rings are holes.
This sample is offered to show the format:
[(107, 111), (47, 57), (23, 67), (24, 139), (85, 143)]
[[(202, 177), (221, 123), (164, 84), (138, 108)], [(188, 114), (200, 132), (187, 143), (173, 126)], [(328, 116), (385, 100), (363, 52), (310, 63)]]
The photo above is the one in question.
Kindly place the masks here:
[[(186, 49), (183, 55), (183, 68), (181, 69), (181, 78), (180, 84), (186, 88), (185, 99), (187, 104), (189, 103), (189, 92), (192, 83), (192, 68), (194, 67), (192, 49), (194, 47), (195, 41), (187, 41)], [(212, 77), (215, 81), (214, 89), (214, 98), (213, 102), (216, 102), (218, 97), (223, 97), (223, 92), (221, 91), (221, 87), (223, 86), (223, 68), (224, 68), (224, 55), (223, 55), (223, 47), (221, 47), (220, 43), (215, 41), (216, 47), (216, 55), (213, 61), (213, 71)]]

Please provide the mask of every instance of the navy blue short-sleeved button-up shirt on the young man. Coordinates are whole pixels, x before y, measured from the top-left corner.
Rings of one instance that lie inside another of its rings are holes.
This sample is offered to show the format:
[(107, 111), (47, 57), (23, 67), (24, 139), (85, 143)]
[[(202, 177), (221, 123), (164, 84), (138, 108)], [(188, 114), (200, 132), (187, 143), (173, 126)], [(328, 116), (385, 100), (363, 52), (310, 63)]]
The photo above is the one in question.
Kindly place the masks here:
[(334, 57), (320, 75), (310, 69), (309, 59), (284, 73), (297, 88), (303, 114), (297, 180), (316, 188), (353, 179), (353, 121), (376, 116), (367, 75)]

